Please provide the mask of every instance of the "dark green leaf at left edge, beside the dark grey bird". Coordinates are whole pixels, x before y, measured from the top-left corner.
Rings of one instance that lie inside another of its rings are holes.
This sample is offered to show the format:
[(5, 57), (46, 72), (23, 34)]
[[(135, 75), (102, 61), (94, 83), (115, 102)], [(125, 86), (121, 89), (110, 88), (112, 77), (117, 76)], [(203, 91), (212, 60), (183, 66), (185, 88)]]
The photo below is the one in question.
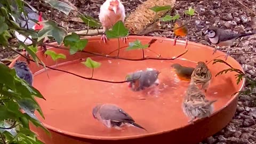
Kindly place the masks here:
[(9, 67), (7, 67), (4, 64), (0, 63), (0, 83), (9, 86), (10, 89), (12, 89), (12, 90), (16, 90), (15, 83), (14, 83), (14, 78), (10, 74), (10, 72), (13, 71), (13, 70), (14, 69), (10, 69)]

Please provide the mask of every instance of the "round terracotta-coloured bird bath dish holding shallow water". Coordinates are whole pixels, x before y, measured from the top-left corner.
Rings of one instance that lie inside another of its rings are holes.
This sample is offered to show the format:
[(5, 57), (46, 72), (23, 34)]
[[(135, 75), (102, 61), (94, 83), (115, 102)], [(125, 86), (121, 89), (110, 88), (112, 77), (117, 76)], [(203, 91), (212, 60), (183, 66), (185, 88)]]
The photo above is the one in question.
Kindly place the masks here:
[[(161, 58), (173, 58), (185, 52), (185, 41), (177, 41), (173, 46), (173, 39), (162, 37), (129, 36), (126, 44), (120, 42), (120, 47), (139, 39), (142, 44), (148, 44), (156, 38), (149, 49), (145, 49), (145, 55)], [(89, 43), (85, 51), (109, 54), (117, 49), (117, 39), (111, 39), (104, 44), (100, 37), (88, 38)], [(57, 45), (57, 43), (52, 43)], [(94, 78), (108, 81), (124, 81), (127, 73), (146, 68), (155, 68), (161, 71), (159, 79), (160, 87), (164, 87), (158, 95), (145, 95), (142, 92), (133, 92), (127, 83), (115, 84), (99, 81), (90, 81), (74, 75), (47, 69), (49, 78), (43, 67), (37, 67), (30, 62), (30, 69), (34, 73), (33, 86), (46, 98), (38, 99), (45, 119), (38, 114), (38, 118), (50, 130), (49, 137), (42, 129), (31, 126), (46, 144), (75, 144), (75, 143), (198, 143), (213, 135), (225, 127), (234, 116), (237, 107), (237, 95), (233, 93), (242, 90), (244, 80), (236, 84), (235, 74), (227, 73), (215, 77), (222, 69), (228, 68), (223, 63), (212, 65), (213, 59), (224, 59), (225, 53), (217, 51), (212, 55), (213, 48), (202, 44), (189, 42), (188, 52), (175, 60), (143, 60), (129, 61), (93, 56), (78, 52), (69, 55), (69, 51), (48, 47), (57, 53), (63, 53), (67, 59), (58, 59), (58, 65), (51, 57), (45, 58), (42, 51), (37, 52), (38, 57), (47, 65), (54, 68), (70, 71), (84, 77), (91, 76), (91, 69), (81, 62), (87, 57), (101, 62), (101, 67), (94, 69)], [(153, 52), (154, 51), (154, 52)], [(117, 51), (110, 55), (116, 55)], [(142, 58), (142, 50), (120, 50), (119, 57), (126, 59)], [(25, 60), (18, 57), (19, 60)], [(17, 60), (16, 59), (16, 60)], [(198, 61), (211, 61), (207, 66), (212, 73), (212, 81), (206, 93), (209, 100), (217, 99), (214, 103), (214, 113), (208, 118), (195, 121), (194, 125), (188, 124), (188, 118), (183, 114), (181, 103), (183, 93), (188, 83), (179, 81), (172, 71), (172, 63), (180, 63), (184, 66), (195, 67)], [(13, 67), (15, 60), (11, 63)], [(239, 63), (228, 57), (227, 62), (234, 68), (241, 69)], [(145, 98), (145, 99), (141, 99)], [(107, 129), (92, 116), (92, 108), (98, 103), (115, 103), (129, 113), (147, 131), (136, 127), (125, 127), (124, 130)]]

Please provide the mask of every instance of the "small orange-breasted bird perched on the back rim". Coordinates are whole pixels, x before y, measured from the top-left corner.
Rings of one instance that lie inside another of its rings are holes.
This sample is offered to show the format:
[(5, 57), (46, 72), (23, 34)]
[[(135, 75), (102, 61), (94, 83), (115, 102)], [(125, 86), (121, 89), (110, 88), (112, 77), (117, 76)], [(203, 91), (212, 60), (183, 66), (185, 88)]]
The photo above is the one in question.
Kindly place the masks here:
[(188, 45), (188, 40), (187, 40), (188, 27), (187, 27), (187, 25), (185, 25), (185, 23), (182, 20), (178, 19), (178, 20), (175, 21), (173, 29), (174, 29), (173, 32), (175, 34), (173, 45), (176, 45), (177, 36), (181, 36), (181, 37), (185, 37), (186, 38), (186, 45), (185, 45), (185, 48), (186, 48), (187, 45)]

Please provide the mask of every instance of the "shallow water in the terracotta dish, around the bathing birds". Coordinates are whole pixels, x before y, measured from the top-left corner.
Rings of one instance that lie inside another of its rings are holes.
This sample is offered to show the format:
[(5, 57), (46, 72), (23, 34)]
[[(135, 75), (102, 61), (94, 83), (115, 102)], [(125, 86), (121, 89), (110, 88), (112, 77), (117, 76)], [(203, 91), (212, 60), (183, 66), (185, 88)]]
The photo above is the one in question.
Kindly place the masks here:
[[(92, 109), (95, 105), (115, 103), (131, 115), (136, 123), (145, 127), (148, 133), (173, 130), (188, 124), (181, 103), (189, 82), (180, 81), (170, 66), (173, 63), (180, 63), (195, 67), (195, 62), (179, 59), (173, 61), (125, 61), (102, 57), (92, 57), (92, 59), (101, 62), (101, 67), (94, 69), (93, 77), (108, 81), (124, 81), (127, 73), (155, 68), (161, 71), (158, 77), (161, 82), (158, 87), (161, 91), (150, 95), (146, 92), (131, 91), (127, 83), (90, 81), (50, 69), (47, 70), (50, 76), (48, 78), (45, 71), (38, 71), (34, 76), (33, 86), (46, 98), (46, 101), (38, 99), (45, 119), (40, 116), (38, 118), (43, 123), (55, 127), (60, 132), (84, 135), (122, 137), (147, 133), (132, 126), (124, 127), (123, 130), (108, 129), (93, 118)], [(81, 62), (82, 60), (76, 60), (61, 63), (57, 68), (90, 77), (92, 70)], [(206, 98), (218, 99), (214, 103), (214, 111), (216, 111), (226, 105), (235, 87), (229, 85), (231, 82), (227, 76), (215, 77), (218, 68), (210, 70), (213, 76)]]

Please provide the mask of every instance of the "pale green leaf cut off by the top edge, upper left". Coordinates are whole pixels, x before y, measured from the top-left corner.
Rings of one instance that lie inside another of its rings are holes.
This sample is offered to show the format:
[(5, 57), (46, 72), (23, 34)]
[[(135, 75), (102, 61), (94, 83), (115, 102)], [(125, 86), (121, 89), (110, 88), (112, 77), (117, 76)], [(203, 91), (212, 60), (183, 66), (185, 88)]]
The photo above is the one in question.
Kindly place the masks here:
[(71, 10), (74, 10), (73, 7), (68, 5), (67, 3), (63, 3), (61, 1), (55, 1), (55, 0), (46, 0), (45, 3), (49, 3), (54, 9), (57, 9), (66, 15), (70, 13)]

